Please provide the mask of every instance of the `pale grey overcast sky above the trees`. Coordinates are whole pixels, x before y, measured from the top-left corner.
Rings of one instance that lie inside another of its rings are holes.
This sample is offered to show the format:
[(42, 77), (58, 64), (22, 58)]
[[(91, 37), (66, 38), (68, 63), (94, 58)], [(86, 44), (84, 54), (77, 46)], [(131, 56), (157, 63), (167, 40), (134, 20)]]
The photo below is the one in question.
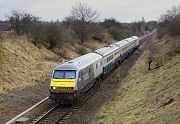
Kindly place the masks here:
[(145, 18), (158, 20), (159, 16), (180, 0), (0, 0), (0, 20), (11, 10), (23, 10), (41, 20), (63, 20), (69, 16), (72, 6), (85, 3), (100, 12), (100, 20), (115, 18), (120, 22), (132, 22)]

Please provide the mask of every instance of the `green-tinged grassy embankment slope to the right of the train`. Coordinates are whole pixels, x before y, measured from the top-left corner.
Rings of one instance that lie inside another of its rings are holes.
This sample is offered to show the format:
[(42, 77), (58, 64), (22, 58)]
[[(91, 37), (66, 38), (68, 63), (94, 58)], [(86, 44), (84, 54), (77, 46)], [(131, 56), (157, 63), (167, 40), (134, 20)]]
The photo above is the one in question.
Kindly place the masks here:
[[(156, 42), (161, 53), (179, 37), (164, 37)], [(179, 51), (179, 50), (178, 50)], [(179, 124), (180, 122), (180, 54), (164, 56), (158, 68), (147, 70), (145, 51), (121, 83), (120, 94), (106, 103), (93, 123), (99, 124)]]

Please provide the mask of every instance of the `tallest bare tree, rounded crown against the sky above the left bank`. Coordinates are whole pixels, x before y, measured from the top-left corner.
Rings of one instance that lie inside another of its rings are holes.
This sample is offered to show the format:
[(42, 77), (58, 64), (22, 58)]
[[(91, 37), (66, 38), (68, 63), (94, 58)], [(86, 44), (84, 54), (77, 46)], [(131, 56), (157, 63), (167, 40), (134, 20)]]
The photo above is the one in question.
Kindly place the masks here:
[(96, 21), (98, 16), (98, 12), (86, 4), (79, 3), (75, 7), (72, 7), (68, 20), (73, 25), (73, 29), (82, 43), (87, 40), (90, 28), (89, 24)]

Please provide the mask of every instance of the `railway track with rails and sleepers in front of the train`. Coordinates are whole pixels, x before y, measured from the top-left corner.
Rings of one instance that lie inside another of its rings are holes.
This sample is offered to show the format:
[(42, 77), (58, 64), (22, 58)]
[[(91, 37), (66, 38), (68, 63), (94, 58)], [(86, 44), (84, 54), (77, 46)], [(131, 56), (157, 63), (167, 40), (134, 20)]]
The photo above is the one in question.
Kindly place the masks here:
[[(99, 85), (99, 84), (98, 84)], [(74, 105), (56, 105), (51, 108), (48, 112), (43, 113), (30, 124), (63, 124), (66, 122), (73, 112), (78, 111), (84, 102), (86, 102), (92, 95), (93, 91), (97, 88), (91, 88), (86, 94), (84, 99)]]

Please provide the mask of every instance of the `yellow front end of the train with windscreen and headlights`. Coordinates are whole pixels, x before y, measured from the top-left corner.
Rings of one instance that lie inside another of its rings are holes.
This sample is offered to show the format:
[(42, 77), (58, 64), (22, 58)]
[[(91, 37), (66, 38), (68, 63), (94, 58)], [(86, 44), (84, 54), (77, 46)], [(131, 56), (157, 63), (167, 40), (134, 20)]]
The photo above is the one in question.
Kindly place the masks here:
[(70, 68), (60, 67), (53, 71), (49, 91), (50, 98), (57, 103), (72, 102), (77, 96), (78, 71), (74, 67)]

